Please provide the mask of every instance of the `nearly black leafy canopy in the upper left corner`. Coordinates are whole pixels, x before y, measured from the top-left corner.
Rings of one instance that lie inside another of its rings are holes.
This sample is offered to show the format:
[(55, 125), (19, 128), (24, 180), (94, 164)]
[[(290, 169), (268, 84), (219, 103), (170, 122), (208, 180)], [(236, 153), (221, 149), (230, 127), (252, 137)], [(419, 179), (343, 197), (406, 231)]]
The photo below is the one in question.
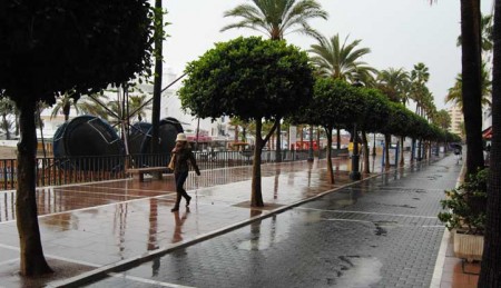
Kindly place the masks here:
[(52, 105), (70, 89), (78, 97), (147, 71), (149, 8), (140, 0), (1, 1), (0, 88), (14, 101)]

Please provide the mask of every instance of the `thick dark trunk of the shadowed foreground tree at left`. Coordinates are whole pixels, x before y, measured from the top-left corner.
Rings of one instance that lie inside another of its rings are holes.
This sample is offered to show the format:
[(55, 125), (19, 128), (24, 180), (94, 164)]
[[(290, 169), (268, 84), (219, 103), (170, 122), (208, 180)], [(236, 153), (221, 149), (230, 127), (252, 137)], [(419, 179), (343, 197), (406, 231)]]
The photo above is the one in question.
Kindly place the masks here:
[(21, 248), (21, 275), (40, 276), (52, 272), (43, 256), (38, 226), (36, 198), (36, 103), (18, 103), (21, 137), (18, 143), (18, 189), (16, 193), (16, 222)]

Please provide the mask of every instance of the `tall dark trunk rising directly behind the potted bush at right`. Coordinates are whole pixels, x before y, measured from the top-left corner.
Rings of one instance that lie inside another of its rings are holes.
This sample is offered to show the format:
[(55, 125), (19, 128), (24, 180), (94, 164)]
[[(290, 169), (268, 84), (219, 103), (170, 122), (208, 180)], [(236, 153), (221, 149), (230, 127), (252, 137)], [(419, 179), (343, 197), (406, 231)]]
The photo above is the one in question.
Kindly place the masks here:
[(483, 168), (480, 0), (461, 0), (462, 95), (466, 175)]

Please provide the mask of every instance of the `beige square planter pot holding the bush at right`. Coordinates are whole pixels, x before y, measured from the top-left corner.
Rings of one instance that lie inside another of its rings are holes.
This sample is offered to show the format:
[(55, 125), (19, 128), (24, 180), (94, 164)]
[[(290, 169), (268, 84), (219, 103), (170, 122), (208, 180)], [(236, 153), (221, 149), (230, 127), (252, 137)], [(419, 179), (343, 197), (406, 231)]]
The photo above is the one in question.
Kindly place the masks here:
[(466, 261), (480, 261), (483, 254), (483, 235), (464, 234), (454, 229), (454, 255)]

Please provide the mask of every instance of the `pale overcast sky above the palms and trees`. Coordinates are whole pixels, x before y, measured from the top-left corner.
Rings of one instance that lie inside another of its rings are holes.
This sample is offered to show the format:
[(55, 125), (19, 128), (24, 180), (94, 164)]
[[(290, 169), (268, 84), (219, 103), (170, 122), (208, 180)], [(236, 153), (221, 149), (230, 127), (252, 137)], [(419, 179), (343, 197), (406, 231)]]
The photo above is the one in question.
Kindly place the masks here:
[[(338, 33), (348, 41), (361, 39), (361, 47), (372, 52), (363, 60), (376, 69), (404, 68), (411, 71), (418, 62), (430, 69), (429, 88), (435, 106), (445, 108), (444, 97), (461, 72), (461, 50), (455, 46), (460, 34), (460, 1), (439, 0), (317, 0), (330, 14), (328, 20), (311, 21), (327, 38)], [(165, 68), (180, 75), (187, 62), (196, 60), (215, 42), (238, 36), (257, 34), (248, 29), (219, 32), (236, 22), (223, 13), (249, 0), (164, 0), (167, 38), (164, 44)], [(492, 0), (482, 1), (490, 13)], [(265, 37), (265, 36), (264, 36)], [(315, 40), (303, 34), (287, 34), (286, 40), (308, 49)]]

